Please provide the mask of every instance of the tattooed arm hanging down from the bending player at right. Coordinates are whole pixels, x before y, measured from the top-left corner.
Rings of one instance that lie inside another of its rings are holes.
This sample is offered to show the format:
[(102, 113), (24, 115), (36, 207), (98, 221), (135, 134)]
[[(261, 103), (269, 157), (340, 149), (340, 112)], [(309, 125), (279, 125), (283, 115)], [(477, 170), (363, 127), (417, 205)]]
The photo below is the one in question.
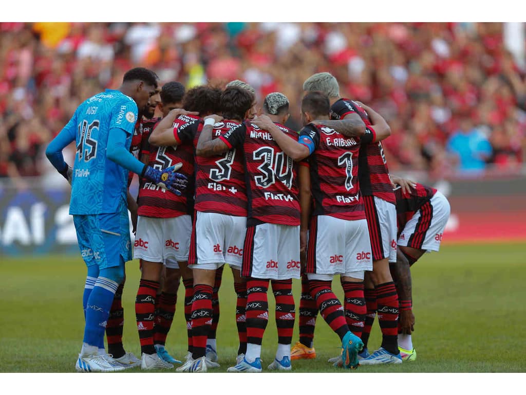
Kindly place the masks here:
[(390, 262), (389, 269), (400, 301), (400, 330), (402, 333), (411, 334), (414, 331), (411, 269), (406, 255), (400, 251), (400, 248), (397, 248), (397, 261)]

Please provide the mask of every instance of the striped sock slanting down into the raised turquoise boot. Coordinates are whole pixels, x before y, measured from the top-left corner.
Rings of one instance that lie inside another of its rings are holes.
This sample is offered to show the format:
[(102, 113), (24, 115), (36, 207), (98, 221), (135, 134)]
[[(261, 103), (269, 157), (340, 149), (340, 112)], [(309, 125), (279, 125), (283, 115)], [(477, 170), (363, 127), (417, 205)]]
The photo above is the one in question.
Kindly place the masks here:
[(341, 303), (331, 290), (331, 281), (310, 280), (309, 286), (310, 294), (316, 300), (321, 317), (340, 339), (343, 339), (349, 327), (345, 321)]

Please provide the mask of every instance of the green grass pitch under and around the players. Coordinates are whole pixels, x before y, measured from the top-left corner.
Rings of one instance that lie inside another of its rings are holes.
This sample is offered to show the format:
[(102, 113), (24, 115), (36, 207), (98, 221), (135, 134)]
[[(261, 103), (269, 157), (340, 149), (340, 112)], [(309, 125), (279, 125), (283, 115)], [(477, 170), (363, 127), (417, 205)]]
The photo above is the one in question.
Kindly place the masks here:
[[(444, 245), (413, 266), (413, 311), (418, 351), (415, 362), (398, 366), (360, 367), (359, 372), (525, 372), (526, 246), (524, 244)], [(80, 256), (6, 258), (0, 261), (0, 372), (74, 372), (82, 345), (84, 318), (82, 292), (86, 270)], [(135, 293), (139, 283), (137, 261), (127, 263), (123, 294), (124, 345), (140, 355), (135, 327)], [(334, 282), (337, 295), (341, 287)], [(299, 302), (299, 280), (294, 297)], [(269, 293), (269, 307), (274, 298)], [(221, 368), (235, 361), (237, 331), (235, 293), (228, 269), (219, 291), (221, 318), (217, 342)], [(183, 287), (167, 349), (176, 357), (186, 354)], [(274, 314), (270, 314), (274, 317)], [(296, 322), (293, 343), (298, 339)], [(262, 348), (264, 368), (274, 359), (276, 324), (271, 318)], [(380, 344), (375, 322), (369, 349)], [(327, 359), (339, 352), (339, 339), (318, 317), (315, 333), (317, 358), (295, 361), (294, 372), (343, 372)], [(130, 370), (138, 373), (140, 369)]]

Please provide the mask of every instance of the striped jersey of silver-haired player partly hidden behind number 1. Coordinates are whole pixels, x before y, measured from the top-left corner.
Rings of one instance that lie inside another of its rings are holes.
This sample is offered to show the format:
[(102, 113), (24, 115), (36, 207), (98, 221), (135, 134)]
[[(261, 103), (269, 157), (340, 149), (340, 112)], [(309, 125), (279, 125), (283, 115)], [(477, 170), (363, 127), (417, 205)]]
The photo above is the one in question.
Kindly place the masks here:
[[(347, 114), (355, 112), (362, 118), (368, 129), (375, 133), (367, 112), (356, 102), (340, 98), (330, 108), (330, 116), (335, 120), (342, 120)], [(363, 144), (360, 147), (360, 191), (363, 196), (377, 196), (387, 202), (395, 204), (395, 195), (389, 178), (386, 157), (381, 142)]]

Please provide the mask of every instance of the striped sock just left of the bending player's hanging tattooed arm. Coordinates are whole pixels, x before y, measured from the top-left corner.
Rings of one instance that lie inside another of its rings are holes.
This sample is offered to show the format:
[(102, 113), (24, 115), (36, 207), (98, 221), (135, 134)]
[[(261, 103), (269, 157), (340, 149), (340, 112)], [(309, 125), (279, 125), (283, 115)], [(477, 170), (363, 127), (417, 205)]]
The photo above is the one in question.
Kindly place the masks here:
[(390, 281), (376, 285), (376, 300), (382, 347), (392, 354), (398, 354), (398, 294), (395, 283)]

